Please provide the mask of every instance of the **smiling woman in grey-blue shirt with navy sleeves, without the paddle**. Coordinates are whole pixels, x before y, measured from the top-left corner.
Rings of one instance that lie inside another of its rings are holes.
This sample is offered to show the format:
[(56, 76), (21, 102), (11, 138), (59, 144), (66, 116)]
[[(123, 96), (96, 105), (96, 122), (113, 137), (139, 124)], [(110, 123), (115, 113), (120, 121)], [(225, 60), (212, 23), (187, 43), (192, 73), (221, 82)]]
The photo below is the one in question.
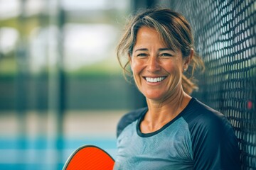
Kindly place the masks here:
[(240, 169), (233, 128), (218, 111), (189, 96), (184, 74), (203, 62), (193, 50), (188, 21), (167, 8), (137, 14), (117, 47), (120, 64), (146, 97), (117, 126), (114, 169)]

